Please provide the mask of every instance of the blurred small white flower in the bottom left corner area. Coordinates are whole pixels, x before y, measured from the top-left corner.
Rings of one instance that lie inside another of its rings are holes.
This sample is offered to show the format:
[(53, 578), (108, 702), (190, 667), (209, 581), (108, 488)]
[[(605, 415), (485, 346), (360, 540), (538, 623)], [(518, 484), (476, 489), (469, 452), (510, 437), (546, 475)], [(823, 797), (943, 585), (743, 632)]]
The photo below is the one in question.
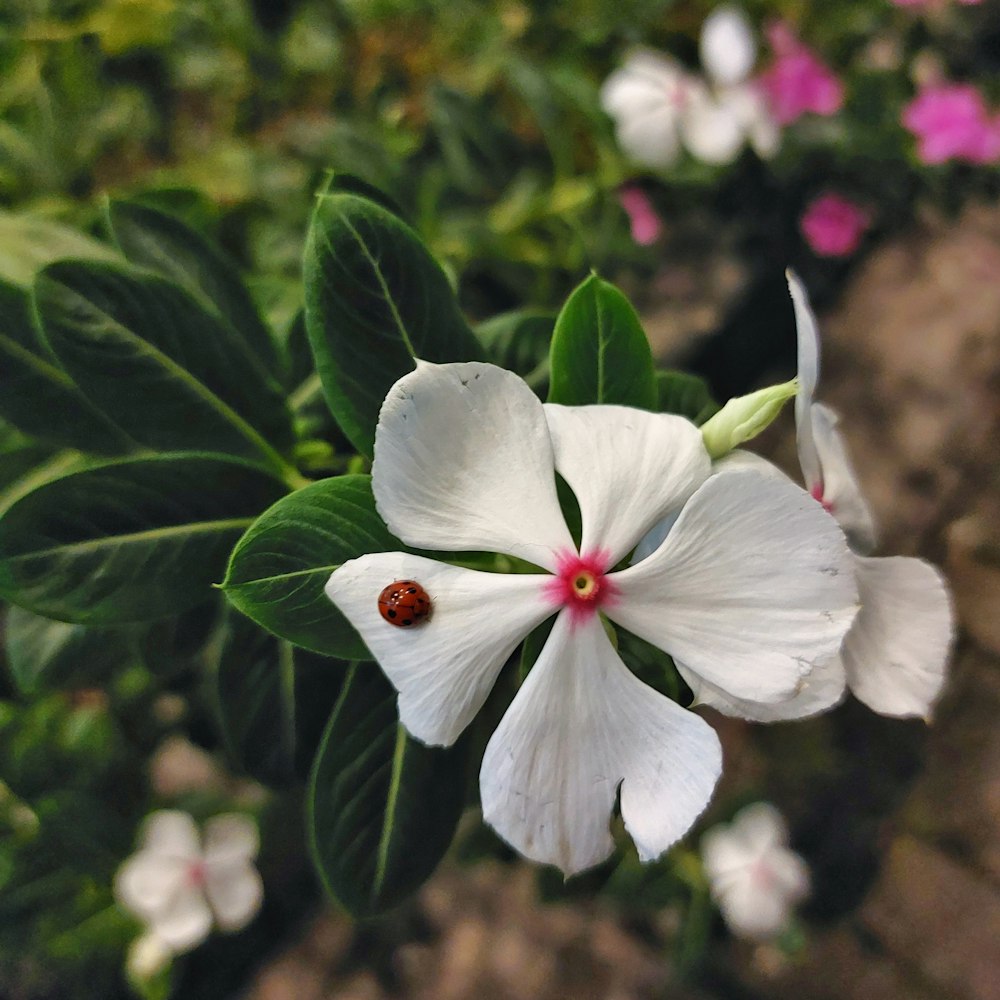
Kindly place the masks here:
[(203, 844), (187, 813), (160, 810), (147, 817), (140, 840), (118, 869), (115, 897), (174, 953), (199, 945), (213, 923), (241, 930), (260, 909), (257, 826), (248, 817), (210, 819)]

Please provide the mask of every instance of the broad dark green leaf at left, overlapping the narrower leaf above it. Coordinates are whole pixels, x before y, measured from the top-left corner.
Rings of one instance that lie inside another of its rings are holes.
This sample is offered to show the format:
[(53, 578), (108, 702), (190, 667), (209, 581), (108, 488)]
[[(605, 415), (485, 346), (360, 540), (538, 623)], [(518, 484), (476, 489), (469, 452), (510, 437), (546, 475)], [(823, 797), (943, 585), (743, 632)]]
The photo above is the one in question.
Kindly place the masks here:
[(61, 261), (35, 284), (42, 333), (88, 398), (137, 441), (236, 454), (283, 470), (278, 384), (240, 337), (148, 272)]

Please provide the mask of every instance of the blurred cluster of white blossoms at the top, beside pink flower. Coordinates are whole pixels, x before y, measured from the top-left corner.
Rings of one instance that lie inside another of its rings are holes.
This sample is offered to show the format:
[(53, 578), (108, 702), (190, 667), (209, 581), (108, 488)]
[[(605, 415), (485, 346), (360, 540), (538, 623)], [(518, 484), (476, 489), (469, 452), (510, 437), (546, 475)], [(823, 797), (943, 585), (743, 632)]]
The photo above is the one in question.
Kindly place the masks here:
[(705, 79), (676, 60), (633, 52), (605, 81), (601, 106), (615, 120), (618, 144), (636, 163), (673, 165), (681, 145), (705, 163), (731, 163), (749, 142), (762, 157), (780, 139), (763, 95), (749, 80), (757, 57), (745, 15), (718, 8), (701, 33)]

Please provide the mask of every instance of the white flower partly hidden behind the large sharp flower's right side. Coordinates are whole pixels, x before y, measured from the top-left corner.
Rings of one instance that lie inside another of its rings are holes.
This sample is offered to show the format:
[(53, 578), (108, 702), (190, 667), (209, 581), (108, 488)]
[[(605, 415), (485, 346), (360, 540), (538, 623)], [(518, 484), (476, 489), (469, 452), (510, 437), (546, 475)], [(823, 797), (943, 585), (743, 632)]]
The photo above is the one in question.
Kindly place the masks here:
[[(846, 688), (881, 715), (927, 718), (944, 684), (954, 635), (947, 584), (941, 573), (922, 559), (868, 555), (875, 546), (874, 519), (837, 430), (836, 415), (813, 401), (819, 379), (816, 318), (801, 282), (791, 274), (788, 281), (798, 329), (795, 422), (799, 463), (807, 489), (847, 535), (861, 610), (839, 654), (821, 663), (798, 694), (785, 702), (763, 704), (732, 698), (685, 664), (678, 662), (677, 669), (697, 702), (755, 722), (815, 715), (840, 701)], [(776, 479), (785, 478), (770, 462), (748, 452), (733, 452), (717, 462), (715, 469), (756, 469)], [(669, 530), (669, 524), (658, 525), (640, 544), (640, 550), (647, 551)]]

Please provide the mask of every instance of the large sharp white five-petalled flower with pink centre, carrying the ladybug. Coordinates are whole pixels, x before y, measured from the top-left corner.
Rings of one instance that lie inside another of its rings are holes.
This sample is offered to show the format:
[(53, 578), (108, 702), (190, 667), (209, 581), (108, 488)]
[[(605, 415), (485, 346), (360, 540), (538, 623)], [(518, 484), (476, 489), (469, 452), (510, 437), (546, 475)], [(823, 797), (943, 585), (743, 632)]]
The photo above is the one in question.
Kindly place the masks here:
[[(582, 513), (579, 549), (557, 471)], [(648, 860), (688, 830), (721, 767), (711, 727), (625, 667), (598, 611), (720, 690), (763, 702), (790, 697), (854, 616), (843, 535), (808, 494), (753, 472), (709, 471), (701, 435), (682, 417), (543, 407), (493, 365), (418, 362), (382, 405), (372, 485), (390, 530), (407, 545), (504, 553), (544, 572), (382, 552), (337, 569), (327, 594), (399, 692), (403, 725), (429, 745), (458, 738), (517, 645), (556, 616), (489, 741), (480, 790), (505, 840), (567, 874), (612, 851), (619, 789)], [(617, 569), (682, 505), (663, 545)], [(378, 607), (399, 580), (432, 602), (410, 628)]]

